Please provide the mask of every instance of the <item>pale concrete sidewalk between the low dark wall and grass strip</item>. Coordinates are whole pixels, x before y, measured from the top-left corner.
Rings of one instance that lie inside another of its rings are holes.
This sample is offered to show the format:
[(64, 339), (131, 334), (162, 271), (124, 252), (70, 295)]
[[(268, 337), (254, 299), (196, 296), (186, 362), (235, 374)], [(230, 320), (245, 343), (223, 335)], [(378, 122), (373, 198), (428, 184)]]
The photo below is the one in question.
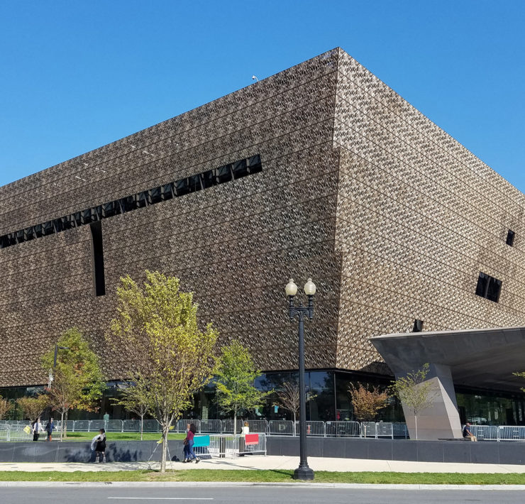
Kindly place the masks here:
[[(201, 460), (199, 464), (170, 462), (167, 469), (243, 469), (243, 470), (293, 470), (299, 464), (298, 457), (292, 456), (244, 456), (236, 459)], [(525, 465), (507, 464), (457, 464), (440, 462), (409, 462), (363, 459), (328, 459), (309, 457), (309, 466), (314, 471), (337, 472), (397, 472), (397, 473), (525, 473)], [(137, 471), (141, 469), (159, 469), (158, 462), (111, 462), (109, 464), (78, 463), (0, 463), (0, 471)]]

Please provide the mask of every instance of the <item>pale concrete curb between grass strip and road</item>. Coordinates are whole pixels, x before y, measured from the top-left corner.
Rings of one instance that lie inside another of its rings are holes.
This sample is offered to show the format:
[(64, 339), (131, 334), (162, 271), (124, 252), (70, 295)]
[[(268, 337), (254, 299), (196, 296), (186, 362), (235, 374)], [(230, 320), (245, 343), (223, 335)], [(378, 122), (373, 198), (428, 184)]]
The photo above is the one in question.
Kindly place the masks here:
[(505, 490), (525, 491), (525, 485), (407, 485), (383, 483), (255, 483), (251, 481), (0, 481), (0, 488), (169, 488), (169, 487), (236, 487), (236, 486), (266, 486), (266, 487), (296, 487), (309, 488), (348, 488), (353, 490)]

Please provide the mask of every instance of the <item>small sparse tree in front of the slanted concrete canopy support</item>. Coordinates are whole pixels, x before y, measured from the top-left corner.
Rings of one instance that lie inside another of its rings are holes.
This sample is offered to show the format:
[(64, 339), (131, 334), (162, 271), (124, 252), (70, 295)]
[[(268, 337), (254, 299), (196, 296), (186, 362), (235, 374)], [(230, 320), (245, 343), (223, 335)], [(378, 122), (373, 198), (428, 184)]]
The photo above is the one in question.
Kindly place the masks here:
[(426, 381), (426, 376), (429, 374), (429, 364), (416, 371), (407, 373), (406, 376), (397, 378), (392, 382), (390, 390), (402, 402), (404, 407), (414, 416), (414, 424), (416, 429), (417, 440), (417, 417), (421, 411), (431, 407), (435, 400), (435, 395), (432, 393), (432, 383)]

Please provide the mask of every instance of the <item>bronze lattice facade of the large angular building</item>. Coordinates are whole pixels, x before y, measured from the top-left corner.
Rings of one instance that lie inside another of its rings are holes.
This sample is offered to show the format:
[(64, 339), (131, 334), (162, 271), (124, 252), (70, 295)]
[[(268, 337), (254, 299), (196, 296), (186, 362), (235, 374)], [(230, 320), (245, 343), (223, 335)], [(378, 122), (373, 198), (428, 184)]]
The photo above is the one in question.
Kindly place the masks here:
[[(385, 373), (368, 339), (414, 320), (525, 324), (524, 207), (332, 50), (0, 188), (0, 387), (44, 383), (40, 356), (72, 326), (125, 378), (104, 332), (118, 279), (145, 269), (181, 278), (266, 371), (297, 367), (284, 285), (311, 276), (306, 366)], [(501, 280), (498, 302), (475, 294), (480, 272)]]

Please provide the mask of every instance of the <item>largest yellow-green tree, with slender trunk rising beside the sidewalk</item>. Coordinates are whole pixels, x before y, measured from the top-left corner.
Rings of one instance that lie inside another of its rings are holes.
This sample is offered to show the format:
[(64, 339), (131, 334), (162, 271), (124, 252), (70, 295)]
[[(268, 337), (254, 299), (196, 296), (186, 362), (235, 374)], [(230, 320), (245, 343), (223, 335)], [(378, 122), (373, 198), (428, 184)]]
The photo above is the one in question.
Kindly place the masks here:
[(211, 324), (199, 329), (193, 293), (179, 290), (178, 278), (145, 275), (143, 285), (121, 278), (112, 341), (126, 349), (128, 376), (140, 373), (148, 380), (152, 410), (162, 427), (160, 470), (165, 472), (170, 425), (212, 378), (217, 333)]

